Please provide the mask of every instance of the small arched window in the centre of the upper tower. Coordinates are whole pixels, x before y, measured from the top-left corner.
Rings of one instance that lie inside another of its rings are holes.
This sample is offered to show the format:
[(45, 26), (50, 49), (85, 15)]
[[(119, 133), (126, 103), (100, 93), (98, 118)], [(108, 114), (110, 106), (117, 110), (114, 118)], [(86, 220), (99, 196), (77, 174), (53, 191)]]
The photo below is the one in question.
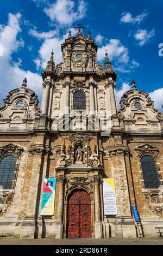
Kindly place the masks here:
[(73, 109), (86, 109), (85, 93), (82, 91), (73, 94)]

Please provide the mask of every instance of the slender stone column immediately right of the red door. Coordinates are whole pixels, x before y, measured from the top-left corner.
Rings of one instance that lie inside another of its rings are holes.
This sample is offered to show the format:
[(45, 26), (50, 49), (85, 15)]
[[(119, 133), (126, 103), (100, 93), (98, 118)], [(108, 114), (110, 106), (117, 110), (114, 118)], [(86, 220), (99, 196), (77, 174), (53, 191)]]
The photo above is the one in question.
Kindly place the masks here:
[(99, 177), (94, 177), (94, 188), (95, 188), (95, 237), (102, 238), (102, 224), (100, 218), (100, 200), (99, 200)]

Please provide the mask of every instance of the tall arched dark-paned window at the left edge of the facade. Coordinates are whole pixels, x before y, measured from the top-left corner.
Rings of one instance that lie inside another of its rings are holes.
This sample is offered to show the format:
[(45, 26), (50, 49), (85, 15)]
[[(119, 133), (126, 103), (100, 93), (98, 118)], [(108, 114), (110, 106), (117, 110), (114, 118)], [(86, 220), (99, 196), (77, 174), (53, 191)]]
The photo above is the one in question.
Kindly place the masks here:
[(0, 185), (3, 189), (12, 188), (12, 180), (16, 169), (16, 158), (14, 156), (6, 156), (0, 162)]

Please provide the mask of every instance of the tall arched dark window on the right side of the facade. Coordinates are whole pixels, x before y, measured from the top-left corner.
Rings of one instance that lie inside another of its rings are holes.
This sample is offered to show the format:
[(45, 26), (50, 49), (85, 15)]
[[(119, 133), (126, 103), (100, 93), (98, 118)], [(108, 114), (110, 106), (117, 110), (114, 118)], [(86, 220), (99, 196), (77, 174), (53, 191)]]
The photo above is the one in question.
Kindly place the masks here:
[(160, 178), (155, 159), (151, 156), (143, 156), (141, 159), (141, 168), (145, 188), (159, 188)]

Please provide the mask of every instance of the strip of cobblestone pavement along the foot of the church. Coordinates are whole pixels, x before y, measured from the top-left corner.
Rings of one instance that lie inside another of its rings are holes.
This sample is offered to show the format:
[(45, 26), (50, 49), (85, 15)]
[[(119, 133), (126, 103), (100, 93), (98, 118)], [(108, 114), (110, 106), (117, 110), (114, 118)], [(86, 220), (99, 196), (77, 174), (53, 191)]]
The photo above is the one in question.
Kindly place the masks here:
[(12, 239), (1, 238), (0, 245), (163, 245), (163, 238), (109, 238), (109, 239)]

